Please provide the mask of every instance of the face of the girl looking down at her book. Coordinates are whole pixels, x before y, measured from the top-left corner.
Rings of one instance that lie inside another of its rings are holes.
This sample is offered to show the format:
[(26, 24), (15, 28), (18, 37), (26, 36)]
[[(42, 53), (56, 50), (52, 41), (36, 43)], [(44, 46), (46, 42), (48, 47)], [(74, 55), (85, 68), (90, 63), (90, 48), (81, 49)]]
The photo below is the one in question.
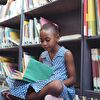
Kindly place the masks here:
[(58, 38), (55, 33), (42, 30), (40, 32), (41, 46), (48, 52), (53, 52), (58, 42)]

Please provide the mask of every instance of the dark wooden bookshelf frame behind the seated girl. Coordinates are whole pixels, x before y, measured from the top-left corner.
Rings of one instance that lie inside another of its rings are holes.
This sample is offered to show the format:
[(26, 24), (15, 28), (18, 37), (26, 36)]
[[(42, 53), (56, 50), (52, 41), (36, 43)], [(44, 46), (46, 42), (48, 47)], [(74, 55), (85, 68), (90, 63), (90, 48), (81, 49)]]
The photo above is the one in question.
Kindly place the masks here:
[(0, 48), (0, 55), (15, 57), (18, 69), (22, 65), (23, 52), (28, 52), (38, 59), (43, 51), (40, 44), (22, 45), (22, 33), (24, 18), (29, 20), (41, 16), (58, 24), (61, 27), (61, 36), (80, 34), (77, 39), (64, 39), (59, 44), (70, 49), (73, 53), (77, 74), (75, 84), (77, 94), (100, 99), (100, 93), (93, 91), (90, 57), (91, 48), (100, 48), (100, 36), (83, 36), (83, 0), (57, 0), (28, 11), (24, 11), (22, 6), (21, 14), (0, 21), (0, 26), (20, 30), (20, 45)]

